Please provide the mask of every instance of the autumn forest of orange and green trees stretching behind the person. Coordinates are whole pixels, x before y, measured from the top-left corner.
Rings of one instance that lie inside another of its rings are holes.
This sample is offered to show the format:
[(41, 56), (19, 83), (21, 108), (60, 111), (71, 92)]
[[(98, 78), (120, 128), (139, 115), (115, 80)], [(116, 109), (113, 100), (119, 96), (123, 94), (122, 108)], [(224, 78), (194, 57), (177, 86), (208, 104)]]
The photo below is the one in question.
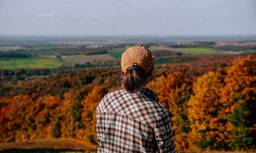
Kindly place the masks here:
[[(189, 57), (197, 60), (155, 65), (157, 81), (147, 85), (169, 111), (176, 148), (254, 149), (256, 54)], [(95, 109), (105, 94), (120, 90), (118, 72), (102, 68), (4, 81), (0, 142), (68, 139), (97, 148)]]

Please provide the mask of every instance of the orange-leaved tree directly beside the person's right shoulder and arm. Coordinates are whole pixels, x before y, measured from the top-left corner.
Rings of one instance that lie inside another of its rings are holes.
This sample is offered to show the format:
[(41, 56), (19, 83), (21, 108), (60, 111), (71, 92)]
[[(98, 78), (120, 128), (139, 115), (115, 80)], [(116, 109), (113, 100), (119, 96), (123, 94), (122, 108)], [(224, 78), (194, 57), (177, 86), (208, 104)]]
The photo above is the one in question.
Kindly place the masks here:
[(176, 148), (186, 150), (188, 149), (187, 133), (190, 130), (187, 101), (191, 94), (192, 81), (181, 72), (168, 73), (157, 78), (157, 81), (149, 83), (147, 87), (156, 92), (159, 102), (169, 111)]

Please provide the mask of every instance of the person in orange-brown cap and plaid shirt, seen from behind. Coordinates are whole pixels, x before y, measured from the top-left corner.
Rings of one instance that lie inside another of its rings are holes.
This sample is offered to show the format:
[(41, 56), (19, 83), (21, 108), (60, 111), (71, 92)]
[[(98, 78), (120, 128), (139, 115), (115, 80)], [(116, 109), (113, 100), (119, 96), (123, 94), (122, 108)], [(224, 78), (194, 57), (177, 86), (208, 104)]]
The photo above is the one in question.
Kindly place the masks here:
[(154, 56), (142, 46), (122, 54), (122, 90), (106, 94), (96, 108), (98, 153), (177, 153), (167, 109), (145, 85)]

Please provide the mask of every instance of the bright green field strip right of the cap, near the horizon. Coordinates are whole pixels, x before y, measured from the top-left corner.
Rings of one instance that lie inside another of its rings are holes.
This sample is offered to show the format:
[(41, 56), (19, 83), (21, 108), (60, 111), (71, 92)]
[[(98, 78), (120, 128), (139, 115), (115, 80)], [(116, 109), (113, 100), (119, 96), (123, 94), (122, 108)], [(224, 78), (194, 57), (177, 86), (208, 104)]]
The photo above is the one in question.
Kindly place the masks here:
[(220, 51), (210, 48), (177, 48), (187, 54), (220, 54)]

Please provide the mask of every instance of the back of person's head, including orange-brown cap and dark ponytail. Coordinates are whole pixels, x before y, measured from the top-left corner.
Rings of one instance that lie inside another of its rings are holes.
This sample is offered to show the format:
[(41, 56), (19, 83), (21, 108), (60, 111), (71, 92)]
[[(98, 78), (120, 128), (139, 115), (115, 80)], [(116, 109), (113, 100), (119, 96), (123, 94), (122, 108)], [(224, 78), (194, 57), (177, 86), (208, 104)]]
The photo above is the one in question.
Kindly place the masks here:
[(134, 46), (125, 50), (121, 59), (120, 80), (128, 93), (134, 93), (151, 79), (154, 80), (154, 59), (151, 51), (145, 47)]

